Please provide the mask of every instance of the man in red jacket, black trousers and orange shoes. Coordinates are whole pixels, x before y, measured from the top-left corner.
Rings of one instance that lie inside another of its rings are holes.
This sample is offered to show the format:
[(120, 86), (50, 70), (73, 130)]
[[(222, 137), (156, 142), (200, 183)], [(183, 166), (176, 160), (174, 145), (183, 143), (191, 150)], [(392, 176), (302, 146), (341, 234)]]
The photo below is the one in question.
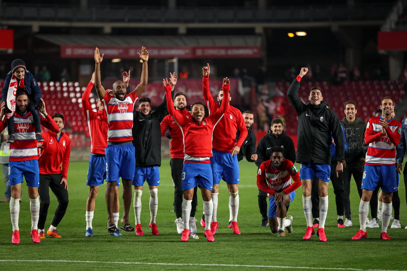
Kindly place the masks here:
[[(65, 215), (68, 207), (68, 182), (66, 176), (71, 154), (71, 140), (62, 132), (64, 117), (55, 113), (52, 118), (57, 124), (59, 131), (47, 131), (42, 133), (44, 142), (37, 143), (39, 147), (39, 188), (38, 194), (41, 199), (39, 205), (38, 232), (39, 238), (44, 239), (44, 225), (50, 205), (49, 188), (58, 199), (58, 207), (55, 210), (54, 219), (47, 230), (47, 235), (54, 238), (62, 238), (57, 232), (57, 226)], [(62, 168), (61, 168), (62, 163)]]

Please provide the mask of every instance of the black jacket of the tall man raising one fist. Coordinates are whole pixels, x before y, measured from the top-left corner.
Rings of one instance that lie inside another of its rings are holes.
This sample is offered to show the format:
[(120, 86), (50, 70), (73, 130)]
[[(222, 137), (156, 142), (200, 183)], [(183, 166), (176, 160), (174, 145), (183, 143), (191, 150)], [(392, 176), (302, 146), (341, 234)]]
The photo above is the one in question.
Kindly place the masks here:
[[(337, 161), (344, 161), (344, 135), (339, 126), (337, 115), (320, 104), (304, 104), (298, 97), (300, 82), (291, 83), (287, 96), (298, 115), (297, 163), (315, 163), (330, 165), (330, 145), (335, 141)], [(332, 137), (331, 137), (332, 133)]]

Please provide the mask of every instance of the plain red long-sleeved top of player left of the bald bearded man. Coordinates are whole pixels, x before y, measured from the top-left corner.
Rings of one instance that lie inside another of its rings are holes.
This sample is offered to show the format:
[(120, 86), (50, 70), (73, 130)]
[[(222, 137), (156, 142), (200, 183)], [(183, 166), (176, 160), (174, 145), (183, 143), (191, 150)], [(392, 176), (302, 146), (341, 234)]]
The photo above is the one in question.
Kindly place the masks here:
[(95, 84), (89, 82), (82, 95), (82, 111), (88, 121), (90, 135), (90, 153), (105, 154), (107, 147), (107, 115), (105, 111), (94, 112), (89, 102), (90, 92)]

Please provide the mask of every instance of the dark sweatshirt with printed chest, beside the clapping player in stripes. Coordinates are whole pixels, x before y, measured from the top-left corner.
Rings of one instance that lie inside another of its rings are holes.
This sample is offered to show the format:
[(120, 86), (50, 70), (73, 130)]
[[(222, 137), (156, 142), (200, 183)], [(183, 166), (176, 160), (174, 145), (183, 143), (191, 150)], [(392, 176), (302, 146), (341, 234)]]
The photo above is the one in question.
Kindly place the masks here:
[(368, 145), (365, 143), (366, 123), (358, 117), (349, 123), (344, 117), (341, 124), (345, 130), (348, 151), (345, 152), (346, 163), (356, 163), (361, 157), (366, 156)]

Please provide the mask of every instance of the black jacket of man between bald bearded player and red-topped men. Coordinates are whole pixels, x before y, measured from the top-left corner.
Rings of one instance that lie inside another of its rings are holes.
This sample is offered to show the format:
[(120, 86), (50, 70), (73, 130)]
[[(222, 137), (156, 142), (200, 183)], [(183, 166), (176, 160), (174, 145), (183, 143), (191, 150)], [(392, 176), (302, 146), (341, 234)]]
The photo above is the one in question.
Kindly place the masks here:
[(161, 166), (160, 124), (167, 114), (166, 96), (157, 110), (148, 115), (134, 111), (132, 131), (138, 167)]

